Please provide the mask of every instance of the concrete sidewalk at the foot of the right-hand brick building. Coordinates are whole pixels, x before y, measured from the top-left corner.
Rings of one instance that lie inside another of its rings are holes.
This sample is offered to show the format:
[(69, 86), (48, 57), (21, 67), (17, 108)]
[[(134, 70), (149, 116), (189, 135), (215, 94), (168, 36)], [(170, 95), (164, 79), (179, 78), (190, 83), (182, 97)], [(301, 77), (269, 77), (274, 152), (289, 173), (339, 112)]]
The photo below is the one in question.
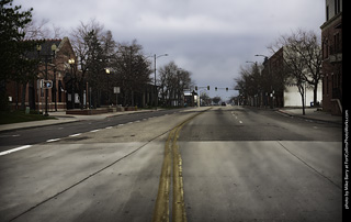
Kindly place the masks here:
[(342, 116), (331, 115), (328, 112), (317, 110), (317, 108), (306, 108), (305, 115), (303, 115), (303, 109), (301, 108), (298, 109), (282, 108), (282, 109), (279, 109), (278, 112), (290, 115), (290, 116), (296, 116), (296, 118), (312, 120), (312, 121), (321, 121), (321, 122), (342, 125)]

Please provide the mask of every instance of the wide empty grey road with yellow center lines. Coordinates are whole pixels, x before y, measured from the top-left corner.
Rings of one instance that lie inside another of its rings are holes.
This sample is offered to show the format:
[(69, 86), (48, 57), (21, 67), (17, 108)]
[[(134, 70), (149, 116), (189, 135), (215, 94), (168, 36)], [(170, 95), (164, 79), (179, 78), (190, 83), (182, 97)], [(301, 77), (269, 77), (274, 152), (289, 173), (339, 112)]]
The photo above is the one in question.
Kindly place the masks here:
[(52, 127), (2, 136), (27, 147), (0, 156), (0, 221), (341, 221), (341, 125), (214, 107)]

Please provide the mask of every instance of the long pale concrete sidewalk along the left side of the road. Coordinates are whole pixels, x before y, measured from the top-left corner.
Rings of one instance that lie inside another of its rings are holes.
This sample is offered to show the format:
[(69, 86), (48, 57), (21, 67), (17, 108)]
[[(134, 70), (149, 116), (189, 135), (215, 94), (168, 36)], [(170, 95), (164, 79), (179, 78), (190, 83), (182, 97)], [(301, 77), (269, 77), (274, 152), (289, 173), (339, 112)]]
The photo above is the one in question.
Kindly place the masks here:
[(94, 114), (94, 115), (72, 115), (72, 114), (66, 114), (66, 111), (49, 112), (48, 113), (49, 116), (53, 116), (55, 119), (2, 124), (0, 125), (0, 132), (13, 131), (19, 129), (31, 129), (31, 127), (41, 127), (46, 125), (64, 124), (64, 123), (78, 122), (78, 121), (84, 121), (84, 120), (103, 120), (105, 118), (115, 116), (115, 115), (133, 114), (133, 113), (139, 113), (139, 112), (154, 112), (154, 111), (156, 110), (109, 112), (109, 113)]

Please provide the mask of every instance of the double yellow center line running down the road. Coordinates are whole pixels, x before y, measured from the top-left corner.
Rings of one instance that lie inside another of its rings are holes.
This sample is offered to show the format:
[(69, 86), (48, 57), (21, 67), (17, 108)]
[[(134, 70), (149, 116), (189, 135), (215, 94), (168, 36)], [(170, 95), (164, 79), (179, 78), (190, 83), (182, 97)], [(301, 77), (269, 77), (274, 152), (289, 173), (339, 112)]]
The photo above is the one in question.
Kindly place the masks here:
[[(208, 109), (207, 109), (208, 110)], [(205, 111), (207, 111), (205, 110)], [(204, 111), (203, 111), (204, 112)], [(169, 199), (172, 180), (172, 221), (185, 222), (186, 213), (184, 207), (184, 189), (182, 176), (182, 157), (179, 153), (177, 143), (180, 130), (192, 119), (203, 113), (199, 112), (195, 115), (186, 119), (182, 123), (173, 127), (167, 138), (165, 145), (165, 158), (162, 164), (161, 177), (158, 187), (158, 195), (154, 210), (152, 222), (169, 222)]]

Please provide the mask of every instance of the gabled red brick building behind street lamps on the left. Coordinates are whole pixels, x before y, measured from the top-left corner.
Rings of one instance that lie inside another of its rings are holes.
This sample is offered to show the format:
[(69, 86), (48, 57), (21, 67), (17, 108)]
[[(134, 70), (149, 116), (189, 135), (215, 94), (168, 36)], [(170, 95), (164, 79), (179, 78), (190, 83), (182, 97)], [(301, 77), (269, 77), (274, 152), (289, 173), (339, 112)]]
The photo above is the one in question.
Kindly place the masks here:
[[(53, 45), (55, 45), (53, 47)], [(39, 51), (33, 49), (30, 59), (41, 59), (37, 68), (36, 79), (30, 80), (25, 86), (21, 86), (14, 81), (7, 84), (7, 93), (12, 109), (19, 109), (22, 103), (22, 97), (25, 96), (25, 107), (31, 110), (45, 109), (46, 90), (41, 86), (41, 80), (52, 80), (53, 86), (47, 90), (48, 111), (64, 110), (69, 107), (71, 97), (67, 87), (71, 81), (70, 73), (73, 67), (68, 63), (69, 59), (76, 59), (75, 52), (68, 40), (44, 40), (41, 41)], [(55, 53), (53, 52), (55, 49)], [(73, 64), (76, 66), (76, 64)], [(77, 70), (77, 68), (76, 68)], [(25, 93), (23, 92), (25, 90)]]

